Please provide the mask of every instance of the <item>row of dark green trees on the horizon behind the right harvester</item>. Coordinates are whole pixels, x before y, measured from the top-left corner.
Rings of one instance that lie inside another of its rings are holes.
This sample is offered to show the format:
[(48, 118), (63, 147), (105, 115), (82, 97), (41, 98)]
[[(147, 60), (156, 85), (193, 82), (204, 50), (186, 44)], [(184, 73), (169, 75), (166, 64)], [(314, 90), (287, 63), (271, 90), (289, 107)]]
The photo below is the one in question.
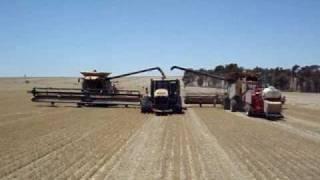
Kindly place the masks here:
[[(282, 91), (320, 92), (320, 65), (246, 69), (238, 64), (231, 63), (218, 65), (213, 69), (198, 69), (198, 71), (221, 76), (251, 72), (258, 75), (258, 79), (263, 85), (272, 85)], [(184, 73), (183, 82), (186, 86), (220, 88), (223, 86), (220, 80), (190, 72)]]

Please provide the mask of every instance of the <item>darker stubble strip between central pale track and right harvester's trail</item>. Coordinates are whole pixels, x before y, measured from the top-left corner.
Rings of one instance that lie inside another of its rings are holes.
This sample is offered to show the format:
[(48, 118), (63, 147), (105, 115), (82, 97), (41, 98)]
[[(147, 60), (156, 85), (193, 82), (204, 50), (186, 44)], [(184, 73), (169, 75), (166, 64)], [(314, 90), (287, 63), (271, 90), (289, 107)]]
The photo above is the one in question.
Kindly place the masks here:
[(196, 112), (240, 169), (256, 179), (316, 179), (320, 176), (319, 142), (274, 125), (219, 109)]

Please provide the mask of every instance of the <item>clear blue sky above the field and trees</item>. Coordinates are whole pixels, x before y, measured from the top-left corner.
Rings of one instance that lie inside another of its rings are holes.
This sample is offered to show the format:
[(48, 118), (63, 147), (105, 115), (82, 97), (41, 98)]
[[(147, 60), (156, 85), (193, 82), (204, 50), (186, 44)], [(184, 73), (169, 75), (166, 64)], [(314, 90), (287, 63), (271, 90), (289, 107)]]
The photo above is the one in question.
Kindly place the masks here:
[(319, 0), (0, 0), (0, 76), (320, 64), (319, 9)]

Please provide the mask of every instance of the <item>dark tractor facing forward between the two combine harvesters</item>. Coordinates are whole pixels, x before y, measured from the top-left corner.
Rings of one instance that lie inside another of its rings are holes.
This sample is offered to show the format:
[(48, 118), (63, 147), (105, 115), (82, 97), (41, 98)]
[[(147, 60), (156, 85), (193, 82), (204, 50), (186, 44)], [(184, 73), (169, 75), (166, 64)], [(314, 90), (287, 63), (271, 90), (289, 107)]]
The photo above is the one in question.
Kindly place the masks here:
[(150, 82), (150, 94), (141, 99), (141, 112), (182, 113), (180, 81), (154, 80)]

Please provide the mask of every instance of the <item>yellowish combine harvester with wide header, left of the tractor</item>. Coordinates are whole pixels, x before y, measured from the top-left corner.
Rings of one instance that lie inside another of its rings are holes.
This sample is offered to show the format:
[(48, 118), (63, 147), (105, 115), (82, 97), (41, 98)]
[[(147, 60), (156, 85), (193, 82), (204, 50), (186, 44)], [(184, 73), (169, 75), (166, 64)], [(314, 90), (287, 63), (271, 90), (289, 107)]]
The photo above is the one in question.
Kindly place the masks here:
[(162, 78), (165, 74), (159, 67), (148, 68), (140, 71), (126, 73), (109, 77), (106, 72), (81, 72), (83, 78), (82, 88), (38, 88), (35, 87), (29, 93), (33, 94), (33, 102), (55, 103), (75, 103), (80, 106), (90, 105), (140, 105), (142, 95), (136, 90), (119, 90), (111, 80), (139, 74), (143, 72), (158, 70)]

